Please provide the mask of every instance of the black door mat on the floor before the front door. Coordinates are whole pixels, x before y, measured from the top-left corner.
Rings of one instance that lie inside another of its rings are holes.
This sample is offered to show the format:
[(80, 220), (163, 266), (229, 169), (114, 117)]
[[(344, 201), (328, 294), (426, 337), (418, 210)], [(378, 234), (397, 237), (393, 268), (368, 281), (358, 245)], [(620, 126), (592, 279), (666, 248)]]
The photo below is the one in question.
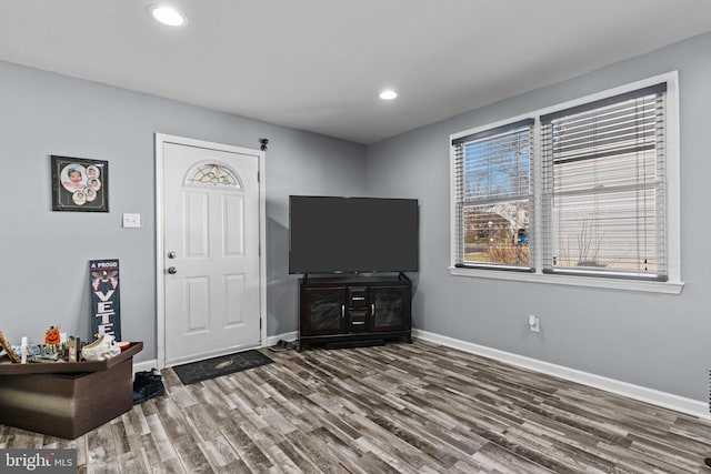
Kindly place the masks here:
[(220, 357), (192, 362), (172, 367), (180, 377), (183, 385), (202, 382), (221, 375), (233, 374), (262, 365), (271, 364), (272, 361), (259, 351), (238, 352), (236, 354), (222, 355)]

